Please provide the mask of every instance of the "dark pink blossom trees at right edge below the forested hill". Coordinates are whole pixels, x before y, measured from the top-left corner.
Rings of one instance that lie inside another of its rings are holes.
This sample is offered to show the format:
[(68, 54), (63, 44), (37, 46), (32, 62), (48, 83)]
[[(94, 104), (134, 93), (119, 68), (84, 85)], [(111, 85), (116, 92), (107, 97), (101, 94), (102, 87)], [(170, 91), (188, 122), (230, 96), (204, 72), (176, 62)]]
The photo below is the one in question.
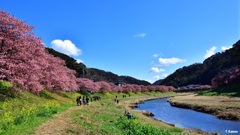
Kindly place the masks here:
[(218, 74), (212, 79), (212, 86), (217, 87), (221, 85), (227, 85), (232, 83), (239, 83), (240, 80), (240, 68), (233, 68), (226, 70)]

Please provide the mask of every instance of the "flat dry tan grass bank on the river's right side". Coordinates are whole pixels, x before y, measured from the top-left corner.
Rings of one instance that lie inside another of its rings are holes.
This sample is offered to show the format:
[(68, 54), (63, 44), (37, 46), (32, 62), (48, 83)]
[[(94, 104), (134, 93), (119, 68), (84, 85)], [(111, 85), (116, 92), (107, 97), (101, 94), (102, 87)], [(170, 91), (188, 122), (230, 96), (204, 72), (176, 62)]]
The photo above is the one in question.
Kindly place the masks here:
[(215, 115), (219, 119), (240, 120), (240, 98), (227, 96), (175, 96), (169, 99), (172, 106), (188, 108)]

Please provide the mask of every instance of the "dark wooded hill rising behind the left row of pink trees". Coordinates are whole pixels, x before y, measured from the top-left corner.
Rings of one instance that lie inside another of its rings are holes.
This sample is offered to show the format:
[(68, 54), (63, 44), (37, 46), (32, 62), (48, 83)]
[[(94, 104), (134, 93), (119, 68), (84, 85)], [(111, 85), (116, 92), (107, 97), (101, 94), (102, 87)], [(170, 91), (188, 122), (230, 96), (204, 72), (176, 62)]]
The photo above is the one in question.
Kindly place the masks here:
[(93, 81), (106, 81), (114, 84), (126, 83), (126, 84), (139, 84), (139, 85), (151, 85), (144, 80), (138, 80), (130, 76), (118, 76), (112, 72), (107, 72), (97, 68), (87, 68), (83, 63), (77, 63), (74, 58), (69, 57), (63, 53), (60, 53), (52, 48), (46, 48), (46, 51), (55, 57), (59, 57), (66, 62), (66, 66), (76, 71), (76, 77), (89, 78)]

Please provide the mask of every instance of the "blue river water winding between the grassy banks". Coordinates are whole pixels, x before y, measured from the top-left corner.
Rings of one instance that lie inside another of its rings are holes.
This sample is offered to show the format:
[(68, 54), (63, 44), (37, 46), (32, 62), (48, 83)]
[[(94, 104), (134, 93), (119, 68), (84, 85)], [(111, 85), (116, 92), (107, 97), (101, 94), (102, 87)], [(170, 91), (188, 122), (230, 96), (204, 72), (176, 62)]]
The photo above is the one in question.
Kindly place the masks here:
[(221, 135), (240, 135), (240, 121), (220, 120), (217, 117), (190, 109), (172, 107), (167, 98), (146, 101), (136, 110), (152, 112), (153, 118), (180, 128), (195, 128)]

